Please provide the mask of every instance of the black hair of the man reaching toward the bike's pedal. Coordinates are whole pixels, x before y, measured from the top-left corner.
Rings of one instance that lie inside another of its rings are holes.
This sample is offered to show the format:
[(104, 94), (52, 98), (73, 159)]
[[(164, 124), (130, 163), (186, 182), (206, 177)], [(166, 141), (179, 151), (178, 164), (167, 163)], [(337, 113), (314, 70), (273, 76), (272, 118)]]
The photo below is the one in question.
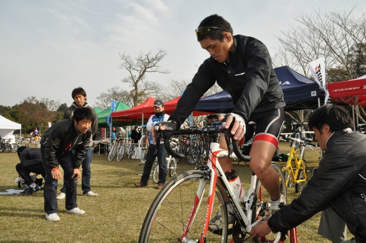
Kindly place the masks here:
[(323, 105), (314, 110), (309, 117), (309, 128), (315, 127), (322, 134), (323, 125), (329, 126), (330, 132), (339, 131), (353, 126), (353, 120), (348, 111), (341, 106)]

